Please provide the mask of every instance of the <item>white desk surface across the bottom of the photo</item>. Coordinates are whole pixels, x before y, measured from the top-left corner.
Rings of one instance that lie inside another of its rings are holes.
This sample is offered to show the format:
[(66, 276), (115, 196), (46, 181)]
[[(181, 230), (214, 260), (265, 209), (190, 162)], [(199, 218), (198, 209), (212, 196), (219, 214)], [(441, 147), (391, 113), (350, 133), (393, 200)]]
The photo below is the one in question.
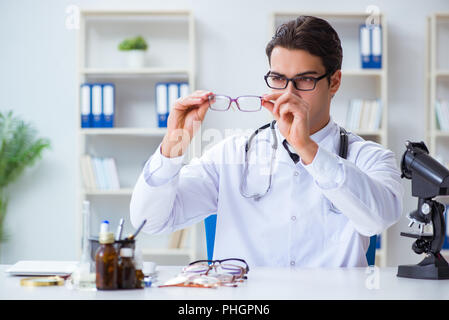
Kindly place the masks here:
[(159, 266), (151, 288), (80, 291), (60, 287), (22, 287), (23, 277), (5, 273), (0, 265), (0, 299), (115, 299), (115, 300), (297, 300), (297, 299), (449, 299), (449, 280), (399, 278), (397, 268), (252, 268), (237, 288), (158, 288), (181, 267)]

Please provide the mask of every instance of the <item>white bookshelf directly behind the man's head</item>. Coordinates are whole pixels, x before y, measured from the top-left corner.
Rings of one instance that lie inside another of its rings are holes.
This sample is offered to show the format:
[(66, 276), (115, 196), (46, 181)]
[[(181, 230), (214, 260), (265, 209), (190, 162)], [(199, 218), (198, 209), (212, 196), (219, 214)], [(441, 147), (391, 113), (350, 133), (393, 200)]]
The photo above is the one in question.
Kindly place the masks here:
[[(342, 80), (339, 91), (331, 104), (331, 116), (336, 123), (345, 127), (349, 104), (352, 99), (379, 99), (382, 105), (380, 126), (378, 129), (355, 129), (351, 131), (365, 140), (371, 140), (388, 147), (388, 99), (387, 99), (387, 21), (384, 14), (378, 18), (382, 26), (382, 68), (363, 69), (360, 58), (359, 26), (370, 17), (365, 12), (274, 12), (271, 15), (269, 39), (276, 28), (284, 22), (300, 15), (311, 15), (327, 20), (337, 31), (342, 48)], [(376, 250), (376, 265), (387, 265), (387, 231), (382, 233), (380, 248)]]

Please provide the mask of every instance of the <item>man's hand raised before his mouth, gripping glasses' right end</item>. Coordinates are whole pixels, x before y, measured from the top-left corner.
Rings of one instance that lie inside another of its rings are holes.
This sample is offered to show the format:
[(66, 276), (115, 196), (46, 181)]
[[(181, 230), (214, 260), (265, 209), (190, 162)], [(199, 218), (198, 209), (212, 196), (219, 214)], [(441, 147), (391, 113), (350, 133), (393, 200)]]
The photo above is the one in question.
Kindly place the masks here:
[(273, 114), (279, 131), (296, 150), (302, 162), (310, 164), (318, 151), (318, 145), (310, 138), (309, 104), (292, 92), (275, 92), (264, 95), (262, 105)]

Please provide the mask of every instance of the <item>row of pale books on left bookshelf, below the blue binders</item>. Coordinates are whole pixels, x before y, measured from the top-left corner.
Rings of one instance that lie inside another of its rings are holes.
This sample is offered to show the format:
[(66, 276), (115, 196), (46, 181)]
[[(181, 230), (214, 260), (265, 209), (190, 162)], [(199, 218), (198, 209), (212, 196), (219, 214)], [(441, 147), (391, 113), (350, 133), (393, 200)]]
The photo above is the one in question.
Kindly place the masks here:
[(117, 165), (114, 158), (99, 158), (83, 155), (81, 174), (84, 187), (88, 190), (118, 190)]

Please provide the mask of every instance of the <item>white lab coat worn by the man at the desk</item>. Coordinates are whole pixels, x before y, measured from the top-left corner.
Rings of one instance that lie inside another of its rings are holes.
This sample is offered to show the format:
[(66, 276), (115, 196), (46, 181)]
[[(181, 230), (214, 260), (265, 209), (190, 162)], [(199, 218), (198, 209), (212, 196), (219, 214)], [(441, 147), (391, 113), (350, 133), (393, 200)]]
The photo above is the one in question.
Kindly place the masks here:
[[(268, 185), (271, 134), (265, 129), (253, 139), (248, 194)], [(147, 219), (142, 231), (168, 233), (217, 213), (214, 259), (243, 258), (250, 266), (366, 266), (369, 237), (401, 216), (403, 188), (391, 151), (348, 135), (345, 160), (337, 155), (339, 127), (331, 119), (311, 136), (319, 145), (313, 162), (295, 164), (276, 125), (272, 185), (259, 201), (240, 193), (247, 136), (226, 138), (184, 166), (183, 157), (166, 158), (158, 148), (134, 188), (131, 223), (137, 227)]]

